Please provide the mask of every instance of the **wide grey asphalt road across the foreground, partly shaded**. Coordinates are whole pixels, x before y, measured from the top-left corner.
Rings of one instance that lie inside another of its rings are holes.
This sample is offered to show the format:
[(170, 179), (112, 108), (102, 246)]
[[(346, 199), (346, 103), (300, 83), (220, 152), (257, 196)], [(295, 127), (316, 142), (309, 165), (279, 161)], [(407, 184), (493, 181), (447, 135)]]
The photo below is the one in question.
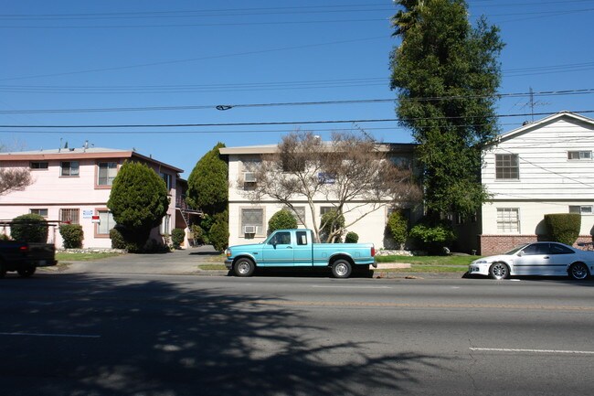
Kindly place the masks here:
[(584, 395), (594, 282), (0, 282), (10, 395)]

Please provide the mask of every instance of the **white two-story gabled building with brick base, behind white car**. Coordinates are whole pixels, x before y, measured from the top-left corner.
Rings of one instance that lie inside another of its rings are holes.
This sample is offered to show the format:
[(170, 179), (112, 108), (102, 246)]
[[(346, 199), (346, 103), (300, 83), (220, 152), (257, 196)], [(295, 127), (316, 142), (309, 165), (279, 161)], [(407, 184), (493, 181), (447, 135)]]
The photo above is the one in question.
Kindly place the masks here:
[(501, 134), (483, 152), (482, 180), (493, 198), (468, 234), (469, 249), (484, 255), (536, 241), (549, 213), (580, 213), (578, 241), (592, 241), (593, 151), (594, 120), (573, 112)]

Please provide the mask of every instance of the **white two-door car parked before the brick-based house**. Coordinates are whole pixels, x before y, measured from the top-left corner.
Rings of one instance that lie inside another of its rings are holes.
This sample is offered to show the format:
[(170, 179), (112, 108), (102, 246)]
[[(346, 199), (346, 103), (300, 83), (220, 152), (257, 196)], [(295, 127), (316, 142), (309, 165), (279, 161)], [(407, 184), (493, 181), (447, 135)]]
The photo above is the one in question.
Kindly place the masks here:
[(469, 275), (506, 279), (514, 275), (569, 276), (587, 279), (594, 271), (594, 252), (581, 251), (559, 242), (534, 242), (498, 256), (471, 262)]

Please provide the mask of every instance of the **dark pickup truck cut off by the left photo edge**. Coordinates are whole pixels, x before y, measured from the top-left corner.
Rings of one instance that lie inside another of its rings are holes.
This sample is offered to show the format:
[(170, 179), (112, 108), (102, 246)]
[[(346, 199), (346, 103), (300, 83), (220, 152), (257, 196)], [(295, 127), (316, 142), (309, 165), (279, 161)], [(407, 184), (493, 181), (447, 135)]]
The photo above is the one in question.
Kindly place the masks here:
[(29, 277), (37, 267), (56, 263), (56, 247), (51, 243), (0, 241), (0, 278), (8, 271)]

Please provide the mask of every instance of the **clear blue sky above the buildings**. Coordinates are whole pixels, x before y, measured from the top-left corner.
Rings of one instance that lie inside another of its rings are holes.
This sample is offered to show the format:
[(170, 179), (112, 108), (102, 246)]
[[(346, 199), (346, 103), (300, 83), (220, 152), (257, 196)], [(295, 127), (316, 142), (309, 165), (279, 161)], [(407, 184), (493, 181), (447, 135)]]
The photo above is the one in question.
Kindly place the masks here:
[[(530, 89), (556, 92), (534, 96), (535, 119), (562, 110), (594, 116), (594, 0), (468, 3), (472, 22), (487, 16), (506, 43), (502, 132), (532, 119), (528, 96), (505, 96)], [(396, 96), (388, 87), (389, 52), (398, 45), (391, 1), (0, 4), (0, 142), (13, 150), (88, 140), (153, 155), (187, 177), (219, 141), (276, 144), (295, 130), (327, 138), (363, 129), (385, 142), (411, 142), (397, 122), (361, 121), (396, 117), (387, 101)], [(376, 102), (296, 104), (335, 101)], [(358, 122), (306, 123), (341, 120)], [(210, 126), (108, 127), (148, 124)], [(64, 127), (42, 127), (50, 125)]]

